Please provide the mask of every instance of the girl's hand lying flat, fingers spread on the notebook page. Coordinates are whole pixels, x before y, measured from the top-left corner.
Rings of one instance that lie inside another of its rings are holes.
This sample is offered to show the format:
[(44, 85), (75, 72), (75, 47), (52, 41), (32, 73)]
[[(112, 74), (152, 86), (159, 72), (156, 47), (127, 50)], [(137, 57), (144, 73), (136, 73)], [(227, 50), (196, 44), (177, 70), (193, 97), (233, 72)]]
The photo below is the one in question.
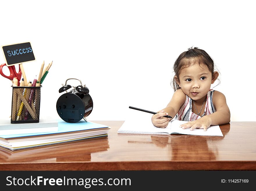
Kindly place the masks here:
[(180, 125), (179, 127), (182, 127), (183, 129), (190, 128), (190, 130), (194, 130), (195, 128), (204, 129), (204, 131), (207, 131), (207, 128), (211, 125), (211, 122), (206, 117), (202, 117), (200, 119), (197, 119), (195, 121), (191, 121), (185, 124)]

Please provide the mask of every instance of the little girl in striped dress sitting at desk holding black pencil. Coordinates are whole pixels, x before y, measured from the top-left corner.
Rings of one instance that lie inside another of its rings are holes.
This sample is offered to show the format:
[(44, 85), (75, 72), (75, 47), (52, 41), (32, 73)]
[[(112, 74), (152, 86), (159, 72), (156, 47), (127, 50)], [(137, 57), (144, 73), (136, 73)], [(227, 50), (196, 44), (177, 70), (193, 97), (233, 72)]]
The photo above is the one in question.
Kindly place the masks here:
[[(221, 92), (211, 90), (211, 84), (218, 78), (212, 58), (201, 49), (190, 48), (179, 55), (173, 66), (174, 94), (167, 107), (152, 116), (156, 127), (166, 128), (170, 118), (189, 121), (183, 129), (203, 128), (230, 122), (230, 110)], [(213, 96), (214, 95), (214, 96)]]

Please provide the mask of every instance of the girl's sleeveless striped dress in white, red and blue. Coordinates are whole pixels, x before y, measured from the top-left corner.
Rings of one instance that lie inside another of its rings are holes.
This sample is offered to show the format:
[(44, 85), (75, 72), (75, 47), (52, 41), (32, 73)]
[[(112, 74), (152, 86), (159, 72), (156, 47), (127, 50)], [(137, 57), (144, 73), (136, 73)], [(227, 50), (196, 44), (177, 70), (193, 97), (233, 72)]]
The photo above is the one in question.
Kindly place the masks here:
[[(212, 96), (215, 90), (209, 90), (207, 93), (206, 104), (205, 104), (205, 112), (202, 115), (210, 115), (215, 112), (215, 108), (212, 103)], [(186, 95), (186, 101), (183, 106), (180, 108), (177, 115), (174, 119), (181, 120), (181, 121), (195, 121), (196, 119), (201, 118), (199, 115), (192, 112), (192, 99)]]

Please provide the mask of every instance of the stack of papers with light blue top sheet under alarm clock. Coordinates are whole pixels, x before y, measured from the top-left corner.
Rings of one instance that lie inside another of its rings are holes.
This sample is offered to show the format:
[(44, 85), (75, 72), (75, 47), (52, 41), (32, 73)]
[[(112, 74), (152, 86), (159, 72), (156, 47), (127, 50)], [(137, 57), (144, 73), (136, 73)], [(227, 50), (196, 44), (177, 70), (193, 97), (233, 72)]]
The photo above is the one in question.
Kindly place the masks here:
[(58, 131), (16, 135), (0, 135), (0, 146), (10, 150), (38, 147), (76, 140), (106, 137), (110, 127), (93, 122), (67, 123), (58, 121)]

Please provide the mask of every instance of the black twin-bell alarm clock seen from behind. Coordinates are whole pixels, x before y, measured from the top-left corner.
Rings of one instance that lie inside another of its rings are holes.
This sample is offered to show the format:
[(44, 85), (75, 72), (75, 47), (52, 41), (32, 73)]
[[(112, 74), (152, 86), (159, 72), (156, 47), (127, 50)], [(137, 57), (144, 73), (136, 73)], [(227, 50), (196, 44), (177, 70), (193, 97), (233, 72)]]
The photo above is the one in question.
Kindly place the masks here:
[[(59, 93), (66, 91), (65, 94), (62, 94), (56, 103), (56, 110), (58, 115), (65, 122), (76, 123), (81, 119), (84, 119), (86, 122), (86, 117), (90, 115), (93, 110), (93, 99), (89, 95), (89, 89), (82, 84), (79, 86), (67, 85), (67, 81), (70, 79), (79, 80), (76, 78), (68, 78), (65, 85), (59, 89)], [(68, 89), (74, 88), (70, 92), (67, 92)]]

